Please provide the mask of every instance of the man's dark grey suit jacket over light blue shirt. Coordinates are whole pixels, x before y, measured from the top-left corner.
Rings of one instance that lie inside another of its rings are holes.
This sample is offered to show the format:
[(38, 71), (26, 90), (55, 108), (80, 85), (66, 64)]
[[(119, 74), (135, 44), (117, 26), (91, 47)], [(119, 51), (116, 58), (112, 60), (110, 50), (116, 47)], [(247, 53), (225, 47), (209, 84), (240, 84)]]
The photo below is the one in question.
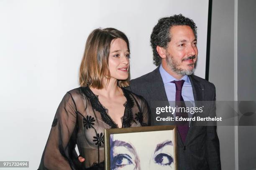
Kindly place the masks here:
[[(215, 101), (215, 86), (205, 79), (190, 75), (193, 95), (196, 101)], [(129, 90), (143, 96), (150, 107), (152, 101), (167, 101), (164, 83), (159, 67), (154, 71), (131, 80)], [(215, 102), (213, 105), (205, 104), (210, 117), (216, 115)], [(198, 107), (197, 103), (196, 106)], [(151, 113), (153, 114), (156, 113)], [(174, 122), (169, 122), (169, 125)], [(166, 125), (164, 122), (152, 120), (151, 125)], [(216, 133), (216, 126), (195, 126), (191, 122), (184, 144), (177, 133), (178, 168), (179, 170), (220, 170), (220, 144)]]

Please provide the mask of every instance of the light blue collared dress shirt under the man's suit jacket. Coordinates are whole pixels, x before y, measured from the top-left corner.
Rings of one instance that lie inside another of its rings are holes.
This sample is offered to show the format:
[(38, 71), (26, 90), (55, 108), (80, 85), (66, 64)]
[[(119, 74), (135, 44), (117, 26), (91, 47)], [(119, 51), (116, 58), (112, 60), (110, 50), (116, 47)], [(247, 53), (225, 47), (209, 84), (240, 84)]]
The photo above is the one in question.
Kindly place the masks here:
[[(168, 72), (166, 72), (162, 67), (162, 65), (160, 65), (159, 71), (164, 82), (164, 89), (165, 89), (169, 104), (171, 107), (175, 107), (174, 101), (175, 101), (176, 87), (175, 87), (175, 84), (172, 83), (172, 81), (177, 79), (172, 77), (172, 75), (170, 75)], [(186, 107), (195, 107), (195, 99), (194, 99), (192, 85), (189, 80), (189, 77), (187, 75), (184, 75), (184, 77), (182, 77), (182, 79), (180, 80), (185, 81), (182, 86), (182, 97), (183, 97), (183, 100), (185, 101)], [(175, 117), (175, 113), (173, 114), (173, 116)], [(192, 114), (188, 113), (188, 116), (192, 117)]]

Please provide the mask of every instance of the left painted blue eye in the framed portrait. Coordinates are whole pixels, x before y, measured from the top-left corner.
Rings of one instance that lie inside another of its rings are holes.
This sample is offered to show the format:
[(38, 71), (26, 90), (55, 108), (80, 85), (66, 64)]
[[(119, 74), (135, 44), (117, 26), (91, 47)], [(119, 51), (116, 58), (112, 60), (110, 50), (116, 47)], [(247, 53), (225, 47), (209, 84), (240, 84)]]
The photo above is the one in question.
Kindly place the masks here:
[(115, 169), (118, 167), (123, 167), (126, 165), (133, 164), (130, 156), (126, 154), (119, 154), (113, 158), (111, 161), (111, 169)]

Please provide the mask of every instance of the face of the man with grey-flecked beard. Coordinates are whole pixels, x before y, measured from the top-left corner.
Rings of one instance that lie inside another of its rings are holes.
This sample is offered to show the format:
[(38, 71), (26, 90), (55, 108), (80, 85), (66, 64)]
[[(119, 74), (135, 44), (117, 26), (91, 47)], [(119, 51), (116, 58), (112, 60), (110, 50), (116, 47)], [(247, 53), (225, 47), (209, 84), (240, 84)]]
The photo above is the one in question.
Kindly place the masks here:
[(197, 40), (187, 25), (172, 26), (166, 49), (166, 63), (177, 75), (191, 75), (197, 60)]

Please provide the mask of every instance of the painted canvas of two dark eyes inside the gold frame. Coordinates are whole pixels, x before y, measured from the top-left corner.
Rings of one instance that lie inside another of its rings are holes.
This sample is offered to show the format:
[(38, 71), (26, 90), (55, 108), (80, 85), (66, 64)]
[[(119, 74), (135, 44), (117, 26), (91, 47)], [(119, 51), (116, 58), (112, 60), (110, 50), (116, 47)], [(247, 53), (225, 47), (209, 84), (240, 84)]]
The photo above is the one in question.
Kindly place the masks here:
[(114, 134), (111, 170), (174, 170), (172, 131)]

